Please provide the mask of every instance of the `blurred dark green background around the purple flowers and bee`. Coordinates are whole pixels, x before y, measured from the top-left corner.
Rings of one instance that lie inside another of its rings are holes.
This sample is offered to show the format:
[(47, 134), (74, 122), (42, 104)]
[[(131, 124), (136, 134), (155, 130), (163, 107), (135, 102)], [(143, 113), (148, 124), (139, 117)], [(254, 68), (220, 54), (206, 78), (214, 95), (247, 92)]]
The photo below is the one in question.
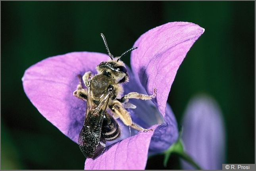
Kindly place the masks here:
[[(83, 169), (77, 144), (26, 97), (24, 71), (72, 51), (123, 53), (147, 30), (170, 21), (205, 28), (177, 72), (168, 102), (180, 124), (188, 101), (218, 101), (227, 130), (226, 163), (254, 163), (254, 1), (250, 2), (1, 2), (1, 169)], [(129, 55), (123, 58), (129, 65)], [(173, 155), (146, 169), (180, 169)]]

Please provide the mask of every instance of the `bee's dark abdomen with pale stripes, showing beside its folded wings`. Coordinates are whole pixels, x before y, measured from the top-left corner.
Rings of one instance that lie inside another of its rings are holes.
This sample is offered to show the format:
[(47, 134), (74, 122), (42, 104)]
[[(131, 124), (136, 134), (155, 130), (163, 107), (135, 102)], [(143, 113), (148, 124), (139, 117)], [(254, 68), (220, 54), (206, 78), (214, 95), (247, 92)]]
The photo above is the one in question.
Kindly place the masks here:
[(112, 116), (106, 114), (102, 123), (102, 135), (106, 141), (112, 141), (117, 139), (120, 135), (119, 125)]

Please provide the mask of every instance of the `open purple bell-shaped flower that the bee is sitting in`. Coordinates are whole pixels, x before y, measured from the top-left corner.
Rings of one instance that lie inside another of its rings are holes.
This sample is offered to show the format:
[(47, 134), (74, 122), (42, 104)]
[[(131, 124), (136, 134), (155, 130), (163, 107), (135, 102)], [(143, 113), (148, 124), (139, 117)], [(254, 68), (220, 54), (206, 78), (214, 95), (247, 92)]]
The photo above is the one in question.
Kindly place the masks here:
[[(131, 130), (129, 136), (123, 131), (127, 128), (119, 122), (121, 133), (125, 134), (123, 140), (108, 146), (98, 158), (87, 159), (85, 169), (144, 169), (148, 152), (162, 152), (177, 140), (177, 122), (166, 101), (179, 65), (203, 32), (193, 23), (173, 22), (149, 30), (135, 42), (138, 49), (131, 53), (132, 71), (128, 68), (130, 82), (124, 85), (125, 94), (152, 94), (157, 88), (155, 99), (133, 100), (131, 103), (137, 108), (129, 110), (135, 123), (143, 127), (154, 124), (151, 128), (155, 130), (137, 134)], [(103, 53), (67, 53), (40, 61), (23, 76), (25, 93), (33, 105), (76, 143), (85, 114), (85, 102), (72, 94), (79, 82), (77, 75), (95, 73), (96, 65), (108, 59)], [(165, 124), (160, 124), (162, 118)]]

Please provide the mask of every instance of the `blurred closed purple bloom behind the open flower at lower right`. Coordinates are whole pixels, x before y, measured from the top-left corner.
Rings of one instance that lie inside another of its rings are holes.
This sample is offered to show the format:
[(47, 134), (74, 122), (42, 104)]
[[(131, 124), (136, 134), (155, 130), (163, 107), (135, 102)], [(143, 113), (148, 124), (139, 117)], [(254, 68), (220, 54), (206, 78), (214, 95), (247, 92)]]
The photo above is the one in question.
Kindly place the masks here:
[[(225, 128), (217, 103), (206, 95), (194, 97), (185, 112), (182, 135), (185, 151), (202, 169), (222, 169)], [(194, 169), (182, 162), (183, 169)]]

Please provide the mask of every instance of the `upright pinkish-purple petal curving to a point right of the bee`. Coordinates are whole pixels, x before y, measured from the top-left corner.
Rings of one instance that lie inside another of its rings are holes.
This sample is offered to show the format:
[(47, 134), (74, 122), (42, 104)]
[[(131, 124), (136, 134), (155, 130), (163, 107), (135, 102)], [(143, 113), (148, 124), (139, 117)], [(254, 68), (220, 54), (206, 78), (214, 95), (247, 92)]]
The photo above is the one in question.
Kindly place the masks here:
[(176, 72), (203, 32), (193, 23), (167, 23), (142, 34), (134, 44), (138, 49), (131, 52), (133, 73), (149, 94), (157, 88), (156, 103), (163, 115)]

